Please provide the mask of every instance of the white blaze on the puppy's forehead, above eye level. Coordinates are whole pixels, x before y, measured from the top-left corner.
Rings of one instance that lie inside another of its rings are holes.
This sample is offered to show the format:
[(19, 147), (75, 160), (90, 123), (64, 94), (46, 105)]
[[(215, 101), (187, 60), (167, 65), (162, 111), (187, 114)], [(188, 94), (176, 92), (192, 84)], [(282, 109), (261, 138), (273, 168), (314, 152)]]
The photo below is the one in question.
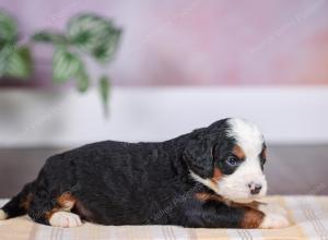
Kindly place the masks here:
[(265, 140), (256, 124), (239, 118), (229, 119), (227, 123), (227, 136), (236, 140), (246, 156), (251, 157), (261, 152)]

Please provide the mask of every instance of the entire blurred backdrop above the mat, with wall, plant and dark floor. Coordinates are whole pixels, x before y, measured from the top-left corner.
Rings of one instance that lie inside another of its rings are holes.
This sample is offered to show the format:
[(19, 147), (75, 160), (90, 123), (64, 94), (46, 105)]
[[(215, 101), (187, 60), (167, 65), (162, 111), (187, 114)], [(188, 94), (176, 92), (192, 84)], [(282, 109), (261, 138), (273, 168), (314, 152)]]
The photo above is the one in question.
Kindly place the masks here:
[(271, 194), (328, 194), (328, 0), (0, 10), (0, 197), (55, 153), (164, 141), (226, 117), (262, 130)]

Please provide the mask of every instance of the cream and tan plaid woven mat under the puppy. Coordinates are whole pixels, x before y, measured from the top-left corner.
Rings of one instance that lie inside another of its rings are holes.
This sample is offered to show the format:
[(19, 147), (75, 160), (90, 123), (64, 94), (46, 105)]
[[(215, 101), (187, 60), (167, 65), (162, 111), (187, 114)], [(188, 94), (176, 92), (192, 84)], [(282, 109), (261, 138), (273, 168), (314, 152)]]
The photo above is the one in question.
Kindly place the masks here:
[[(0, 205), (5, 201), (0, 200)], [(0, 240), (148, 240), (148, 239), (321, 239), (328, 240), (328, 196), (270, 196), (286, 207), (293, 225), (284, 229), (192, 229), (175, 226), (98, 226), (54, 228), (33, 223), (27, 216), (0, 221)]]

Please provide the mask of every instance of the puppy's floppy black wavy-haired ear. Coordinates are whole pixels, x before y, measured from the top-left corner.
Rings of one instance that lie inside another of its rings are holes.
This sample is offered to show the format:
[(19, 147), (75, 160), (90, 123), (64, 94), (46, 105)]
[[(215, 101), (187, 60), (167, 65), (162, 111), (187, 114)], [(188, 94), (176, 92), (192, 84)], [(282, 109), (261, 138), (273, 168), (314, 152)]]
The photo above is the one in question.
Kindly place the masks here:
[(214, 140), (201, 135), (189, 140), (184, 152), (185, 163), (191, 171), (201, 178), (211, 178), (213, 175)]

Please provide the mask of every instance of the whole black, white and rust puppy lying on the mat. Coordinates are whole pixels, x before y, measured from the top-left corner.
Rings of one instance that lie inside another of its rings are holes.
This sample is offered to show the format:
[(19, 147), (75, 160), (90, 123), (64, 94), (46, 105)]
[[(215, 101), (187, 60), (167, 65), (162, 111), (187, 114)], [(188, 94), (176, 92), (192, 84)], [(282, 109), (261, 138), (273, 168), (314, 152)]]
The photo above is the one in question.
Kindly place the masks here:
[(106, 141), (50, 157), (35, 181), (0, 209), (55, 227), (178, 225), (282, 228), (267, 192), (266, 144), (258, 128), (223, 119), (161, 143)]

